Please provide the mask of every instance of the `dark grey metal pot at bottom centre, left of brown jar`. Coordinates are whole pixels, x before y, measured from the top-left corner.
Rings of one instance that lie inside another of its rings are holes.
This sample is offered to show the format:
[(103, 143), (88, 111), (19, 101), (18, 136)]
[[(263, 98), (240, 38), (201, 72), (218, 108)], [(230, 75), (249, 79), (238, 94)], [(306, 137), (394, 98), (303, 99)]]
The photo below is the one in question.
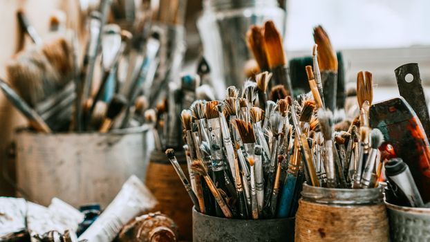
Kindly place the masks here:
[(233, 219), (197, 212), (193, 207), (194, 242), (294, 241), (295, 218)]

